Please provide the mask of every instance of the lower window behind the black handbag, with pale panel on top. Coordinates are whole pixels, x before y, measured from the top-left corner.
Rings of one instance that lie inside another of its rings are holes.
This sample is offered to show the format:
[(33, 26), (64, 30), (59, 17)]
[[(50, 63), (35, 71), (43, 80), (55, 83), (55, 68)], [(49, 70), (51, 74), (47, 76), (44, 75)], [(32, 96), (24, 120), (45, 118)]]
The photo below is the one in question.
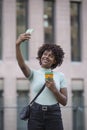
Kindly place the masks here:
[(27, 122), (19, 118), (19, 113), (25, 105), (29, 104), (29, 81), (25, 79), (17, 80), (17, 130), (27, 130)]

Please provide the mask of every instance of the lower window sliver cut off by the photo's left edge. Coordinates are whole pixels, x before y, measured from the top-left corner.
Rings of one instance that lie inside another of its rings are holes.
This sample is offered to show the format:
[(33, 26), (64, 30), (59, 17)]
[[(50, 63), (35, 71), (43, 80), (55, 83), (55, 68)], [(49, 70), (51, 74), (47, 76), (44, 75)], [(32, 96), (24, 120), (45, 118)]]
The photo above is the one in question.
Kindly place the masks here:
[(3, 111), (3, 80), (0, 79), (0, 130), (4, 130), (4, 111)]

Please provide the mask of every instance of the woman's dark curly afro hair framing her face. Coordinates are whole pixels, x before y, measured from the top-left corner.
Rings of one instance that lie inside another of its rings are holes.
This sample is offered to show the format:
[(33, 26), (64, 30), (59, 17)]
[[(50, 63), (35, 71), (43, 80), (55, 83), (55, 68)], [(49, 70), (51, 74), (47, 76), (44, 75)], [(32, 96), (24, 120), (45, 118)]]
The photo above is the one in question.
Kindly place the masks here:
[(38, 53), (37, 53), (37, 59), (39, 60), (39, 63), (41, 65), (41, 57), (44, 53), (44, 51), (46, 50), (51, 50), (54, 57), (55, 57), (55, 64), (53, 64), (51, 66), (51, 69), (54, 69), (56, 68), (57, 66), (60, 66), (63, 62), (63, 58), (64, 58), (64, 51), (63, 49), (59, 46), (59, 45), (56, 45), (56, 44), (43, 44), (39, 49), (38, 49)]

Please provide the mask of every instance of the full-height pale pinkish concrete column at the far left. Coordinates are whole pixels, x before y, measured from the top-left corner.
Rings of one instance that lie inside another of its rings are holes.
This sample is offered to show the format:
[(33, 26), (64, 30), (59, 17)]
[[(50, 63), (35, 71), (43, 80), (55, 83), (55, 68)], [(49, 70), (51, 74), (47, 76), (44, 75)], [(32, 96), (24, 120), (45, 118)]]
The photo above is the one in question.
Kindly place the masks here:
[[(15, 60), (16, 0), (3, 1), (4, 130), (16, 130)], [(15, 70), (15, 69), (14, 69)]]

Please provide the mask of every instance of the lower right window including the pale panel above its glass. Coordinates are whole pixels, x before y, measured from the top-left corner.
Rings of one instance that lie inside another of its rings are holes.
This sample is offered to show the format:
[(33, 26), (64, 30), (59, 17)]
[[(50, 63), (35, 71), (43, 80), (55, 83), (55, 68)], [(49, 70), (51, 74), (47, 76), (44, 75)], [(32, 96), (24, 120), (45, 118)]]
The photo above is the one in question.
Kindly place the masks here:
[(84, 130), (83, 80), (72, 80), (73, 130)]

